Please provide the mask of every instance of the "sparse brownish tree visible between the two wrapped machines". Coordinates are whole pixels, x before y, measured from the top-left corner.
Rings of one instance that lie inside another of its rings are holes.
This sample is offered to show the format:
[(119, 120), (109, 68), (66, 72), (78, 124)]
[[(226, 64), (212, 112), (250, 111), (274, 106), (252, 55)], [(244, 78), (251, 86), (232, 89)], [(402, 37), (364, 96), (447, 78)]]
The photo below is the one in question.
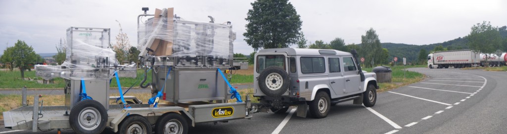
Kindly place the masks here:
[(117, 20), (118, 26), (120, 26), (120, 32), (116, 35), (116, 44), (113, 45), (113, 51), (116, 53), (116, 59), (118, 62), (128, 60), (128, 49), (130, 48), (130, 41), (127, 33), (123, 32), (122, 25)]

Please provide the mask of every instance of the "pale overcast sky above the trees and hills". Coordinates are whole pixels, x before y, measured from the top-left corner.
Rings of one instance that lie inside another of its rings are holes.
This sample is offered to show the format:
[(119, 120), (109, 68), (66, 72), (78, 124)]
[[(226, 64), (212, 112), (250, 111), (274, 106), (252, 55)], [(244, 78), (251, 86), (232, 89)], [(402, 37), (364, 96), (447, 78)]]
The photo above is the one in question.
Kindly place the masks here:
[[(70, 26), (111, 28), (112, 42), (122, 24), (132, 46), (137, 42), (141, 7), (174, 8), (185, 20), (231, 21), (237, 33), (234, 53), (253, 49), (243, 40), (246, 13), (253, 1), (3, 1), (0, 0), (0, 54), (24, 40), (37, 53), (56, 53), (55, 44)], [(381, 42), (430, 44), (463, 37), (482, 21), (507, 25), (507, 1), (289, 1), (301, 15), (302, 31), (310, 41), (360, 43), (374, 28)], [(294, 45), (293, 47), (295, 47)]]

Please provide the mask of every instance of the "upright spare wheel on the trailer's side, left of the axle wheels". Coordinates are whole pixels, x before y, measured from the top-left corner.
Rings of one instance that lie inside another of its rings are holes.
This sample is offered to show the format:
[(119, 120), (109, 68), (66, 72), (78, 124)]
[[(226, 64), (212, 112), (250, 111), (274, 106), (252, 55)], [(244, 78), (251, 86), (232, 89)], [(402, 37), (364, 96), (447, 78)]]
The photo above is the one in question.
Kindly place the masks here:
[(107, 123), (107, 112), (99, 102), (83, 100), (70, 110), (68, 122), (76, 133), (100, 133)]

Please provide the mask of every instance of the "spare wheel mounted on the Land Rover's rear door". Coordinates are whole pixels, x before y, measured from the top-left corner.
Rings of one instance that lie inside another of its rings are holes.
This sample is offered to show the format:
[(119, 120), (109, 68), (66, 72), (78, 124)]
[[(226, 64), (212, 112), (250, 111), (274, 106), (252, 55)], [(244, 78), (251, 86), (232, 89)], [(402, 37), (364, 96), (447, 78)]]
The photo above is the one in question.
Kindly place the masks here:
[(280, 67), (272, 66), (264, 69), (259, 75), (261, 91), (272, 97), (279, 97), (287, 91), (290, 83), (287, 72)]

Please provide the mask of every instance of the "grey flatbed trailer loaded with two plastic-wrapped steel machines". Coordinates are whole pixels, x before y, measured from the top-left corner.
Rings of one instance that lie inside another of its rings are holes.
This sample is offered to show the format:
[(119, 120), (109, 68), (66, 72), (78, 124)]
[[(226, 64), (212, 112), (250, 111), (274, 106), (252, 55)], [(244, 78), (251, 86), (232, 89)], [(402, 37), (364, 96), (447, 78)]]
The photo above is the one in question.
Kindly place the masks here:
[[(154, 15), (146, 13), (148, 8), (142, 10), (137, 47), (144, 69), (140, 86), (152, 92), (148, 104), (124, 96), (128, 90), (123, 92), (119, 77), (135, 78), (137, 69), (134, 63), (120, 65), (116, 60), (110, 29), (70, 27), (65, 62), (37, 65), (36, 70), (44, 79), (65, 79), (65, 106), (44, 106), (40, 103), (44, 96), (35, 96), (33, 106), (4, 112), (5, 127), (33, 132), (100, 133), (108, 128), (118, 133), (187, 133), (196, 123), (252, 117), (250, 98), (242, 100), (223, 71), (233, 63), (236, 36), (230, 23), (215, 24), (212, 17), (209, 23), (178, 20), (172, 8), (157, 9)], [(110, 97), (110, 83), (115, 81), (120, 96)], [(236, 102), (228, 102), (229, 98)], [(115, 100), (120, 102), (111, 104)]]

